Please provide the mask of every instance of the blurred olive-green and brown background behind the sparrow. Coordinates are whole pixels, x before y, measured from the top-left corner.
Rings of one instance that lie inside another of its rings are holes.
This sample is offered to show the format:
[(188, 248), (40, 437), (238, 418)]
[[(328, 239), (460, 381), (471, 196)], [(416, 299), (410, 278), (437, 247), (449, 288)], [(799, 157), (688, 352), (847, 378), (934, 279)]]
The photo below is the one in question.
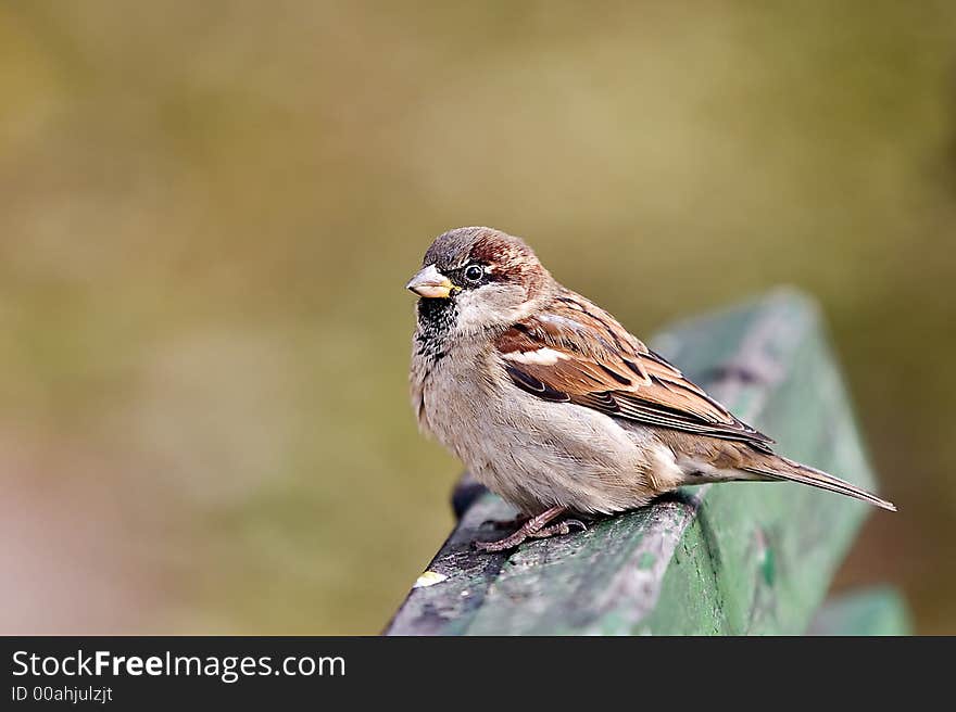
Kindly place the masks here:
[(815, 294), (956, 633), (956, 4), (0, 2), (0, 632), (376, 633), (451, 525), (439, 232), (650, 336)]

